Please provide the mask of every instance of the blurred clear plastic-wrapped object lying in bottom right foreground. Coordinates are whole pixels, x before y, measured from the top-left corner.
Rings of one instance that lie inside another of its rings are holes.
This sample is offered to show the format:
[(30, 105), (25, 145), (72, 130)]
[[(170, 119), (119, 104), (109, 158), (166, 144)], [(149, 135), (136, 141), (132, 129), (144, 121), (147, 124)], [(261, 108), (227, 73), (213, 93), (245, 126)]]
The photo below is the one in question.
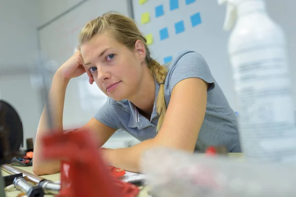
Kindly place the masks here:
[(166, 148), (144, 153), (153, 197), (295, 197), (296, 167), (256, 164)]

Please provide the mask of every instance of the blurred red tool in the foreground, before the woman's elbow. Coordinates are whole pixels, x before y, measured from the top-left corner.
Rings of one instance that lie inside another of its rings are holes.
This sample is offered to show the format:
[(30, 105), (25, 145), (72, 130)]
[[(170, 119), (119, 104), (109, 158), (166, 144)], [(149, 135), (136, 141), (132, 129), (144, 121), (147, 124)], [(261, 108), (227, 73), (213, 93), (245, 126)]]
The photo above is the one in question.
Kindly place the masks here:
[[(98, 154), (90, 131), (53, 131), (43, 139), (44, 158), (61, 159), (61, 192), (57, 197), (137, 197), (137, 186), (112, 176)], [(77, 157), (79, 155), (79, 157)]]

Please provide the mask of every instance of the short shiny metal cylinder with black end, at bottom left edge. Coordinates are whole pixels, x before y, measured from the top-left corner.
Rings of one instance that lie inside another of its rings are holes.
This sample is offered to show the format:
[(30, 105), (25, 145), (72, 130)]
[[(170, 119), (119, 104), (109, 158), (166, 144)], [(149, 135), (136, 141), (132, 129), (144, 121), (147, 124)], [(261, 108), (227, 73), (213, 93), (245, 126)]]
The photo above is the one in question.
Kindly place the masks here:
[(16, 189), (25, 193), (28, 197), (43, 197), (44, 192), (40, 186), (34, 186), (26, 181), (24, 177), (16, 177), (13, 181)]

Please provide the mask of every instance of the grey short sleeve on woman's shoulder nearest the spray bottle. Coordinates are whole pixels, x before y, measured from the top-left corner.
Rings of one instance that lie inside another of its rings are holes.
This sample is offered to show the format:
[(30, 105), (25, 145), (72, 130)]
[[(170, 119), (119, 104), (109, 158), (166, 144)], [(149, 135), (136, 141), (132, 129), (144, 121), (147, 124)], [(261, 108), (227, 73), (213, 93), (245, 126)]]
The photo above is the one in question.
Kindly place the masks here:
[(189, 51), (179, 55), (171, 64), (169, 72), (169, 89), (172, 92), (177, 83), (186, 78), (200, 78), (210, 84), (208, 92), (215, 88), (215, 79), (205, 59), (196, 52)]

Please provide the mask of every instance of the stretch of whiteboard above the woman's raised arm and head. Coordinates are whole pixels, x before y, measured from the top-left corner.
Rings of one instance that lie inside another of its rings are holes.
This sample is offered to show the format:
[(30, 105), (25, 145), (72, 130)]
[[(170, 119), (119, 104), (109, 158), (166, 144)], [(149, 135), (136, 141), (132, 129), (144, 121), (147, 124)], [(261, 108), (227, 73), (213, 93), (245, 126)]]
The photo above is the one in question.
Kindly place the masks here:
[(39, 30), (41, 51), (51, 60), (62, 65), (73, 55), (78, 44), (78, 33), (88, 21), (112, 10), (124, 15), (130, 15), (128, 0), (108, 0), (108, 3), (103, 2), (102, 0), (87, 0), (66, 15)]

